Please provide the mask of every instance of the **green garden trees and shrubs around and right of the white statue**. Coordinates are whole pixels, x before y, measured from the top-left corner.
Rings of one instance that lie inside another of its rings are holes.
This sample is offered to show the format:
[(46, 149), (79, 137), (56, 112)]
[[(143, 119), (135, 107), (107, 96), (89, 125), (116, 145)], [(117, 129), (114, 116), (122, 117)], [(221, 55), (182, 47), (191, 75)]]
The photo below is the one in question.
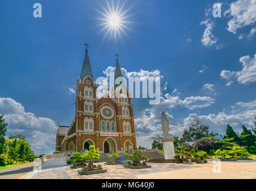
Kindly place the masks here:
[[(190, 128), (184, 130), (181, 138), (173, 137), (176, 153), (174, 158), (177, 163), (181, 160), (184, 163), (205, 163), (209, 157), (221, 161), (251, 160), (249, 157), (256, 157), (256, 122), (251, 130), (242, 125), (240, 134), (235, 133), (233, 128), (227, 125), (226, 134), (218, 137), (217, 133), (209, 133), (208, 125), (193, 119)], [(151, 139), (152, 149), (164, 152), (161, 137)]]

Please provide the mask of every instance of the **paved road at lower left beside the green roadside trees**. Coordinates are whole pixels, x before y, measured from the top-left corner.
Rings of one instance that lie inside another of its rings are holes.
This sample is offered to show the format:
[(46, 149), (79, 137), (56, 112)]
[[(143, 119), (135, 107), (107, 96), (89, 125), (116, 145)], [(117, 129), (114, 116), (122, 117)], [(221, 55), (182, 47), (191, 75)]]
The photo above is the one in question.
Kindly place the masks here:
[(0, 179), (21, 179), (33, 171), (33, 162), (0, 170)]

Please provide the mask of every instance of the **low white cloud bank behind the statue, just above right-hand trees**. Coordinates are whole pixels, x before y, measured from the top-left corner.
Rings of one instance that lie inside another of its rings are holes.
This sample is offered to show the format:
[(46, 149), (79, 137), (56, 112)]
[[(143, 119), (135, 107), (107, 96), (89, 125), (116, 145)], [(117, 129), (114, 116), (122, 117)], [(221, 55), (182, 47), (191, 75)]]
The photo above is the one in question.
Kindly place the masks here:
[[(233, 127), (235, 132), (241, 133), (242, 124), (247, 128), (254, 127), (254, 116), (256, 115), (256, 100), (249, 102), (238, 102), (235, 106), (231, 106), (231, 113), (218, 112), (210, 113), (208, 115), (198, 115), (196, 113), (190, 113), (186, 118), (182, 120), (182, 124), (172, 125), (170, 121), (170, 133), (181, 137), (183, 131), (190, 127), (193, 119), (199, 119), (203, 124), (209, 125), (209, 130), (224, 135), (227, 128), (227, 124)], [(161, 127), (153, 131), (150, 135), (138, 137), (138, 145), (151, 148), (152, 140), (149, 138), (153, 135), (161, 135)]]

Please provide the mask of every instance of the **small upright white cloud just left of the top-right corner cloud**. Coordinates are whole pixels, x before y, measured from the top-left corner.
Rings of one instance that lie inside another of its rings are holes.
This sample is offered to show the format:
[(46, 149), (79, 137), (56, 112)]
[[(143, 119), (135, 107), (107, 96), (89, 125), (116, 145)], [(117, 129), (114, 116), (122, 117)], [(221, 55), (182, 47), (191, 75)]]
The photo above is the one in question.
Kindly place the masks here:
[(214, 21), (210, 21), (209, 19), (202, 21), (200, 25), (205, 25), (205, 32), (203, 33), (202, 43), (206, 47), (212, 47), (218, 42), (218, 39), (212, 34), (212, 29), (215, 26)]

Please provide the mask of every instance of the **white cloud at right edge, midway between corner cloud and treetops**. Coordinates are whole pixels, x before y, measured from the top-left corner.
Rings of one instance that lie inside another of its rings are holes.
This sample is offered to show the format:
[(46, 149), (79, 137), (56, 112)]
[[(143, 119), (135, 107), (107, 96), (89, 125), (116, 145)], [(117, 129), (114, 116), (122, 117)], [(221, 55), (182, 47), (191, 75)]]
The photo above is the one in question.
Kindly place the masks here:
[(251, 58), (250, 56), (241, 57), (240, 63), (242, 63), (243, 67), (241, 71), (221, 71), (221, 77), (229, 81), (227, 85), (231, 85), (232, 78), (236, 79), (239, 84), (249, 84), (251, 82), (256, 82), (256, 54), (254, 55), (254, 58)]

